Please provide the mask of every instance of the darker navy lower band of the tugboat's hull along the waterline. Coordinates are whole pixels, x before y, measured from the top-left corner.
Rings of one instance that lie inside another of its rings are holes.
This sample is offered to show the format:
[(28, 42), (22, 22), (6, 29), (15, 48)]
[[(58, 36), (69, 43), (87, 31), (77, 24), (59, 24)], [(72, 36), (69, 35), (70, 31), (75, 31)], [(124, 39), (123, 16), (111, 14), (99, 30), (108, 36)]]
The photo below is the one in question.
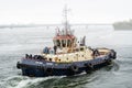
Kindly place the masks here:
[[(110, 61), (111, 62), (111, 61)], [(23, 67), (22, 68), (22, 75), (23, 76), (30, 76), (30, 77), (46, 77), (46, 76), (73, 76), (80, 73), (90, 73), (92, 70), (96, 70), (98, 68), (101, 68), (103, 66), (107, 66), (110, 64), (110, 62), (105, 62), (98, 65), (94, 65), (92, 67), (80, 67), (77, 70), (73, 70), (70, 68), (64, 68), (64, 69), (56, 69), (56, 68), (32, 68), (32, 67)]]

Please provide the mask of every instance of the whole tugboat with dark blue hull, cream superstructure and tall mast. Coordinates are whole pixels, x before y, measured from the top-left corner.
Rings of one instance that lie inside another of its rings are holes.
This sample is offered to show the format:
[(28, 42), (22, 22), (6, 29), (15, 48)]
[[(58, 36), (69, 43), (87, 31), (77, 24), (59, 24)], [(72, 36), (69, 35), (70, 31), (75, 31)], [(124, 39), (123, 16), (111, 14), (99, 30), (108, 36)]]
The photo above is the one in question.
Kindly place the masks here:
[(88, 74), (117, 58), (113, 50), (86, 46), (86, 36), (78, 42), (67, 22), (67, 9), (64, 24), (64, 29), (58, 29), (53, 37), (53, 47), (44, 47), (40, 55), (25, 54), (25, 57), (16, 63), (23, 76), (73, 76), (84, 72)]

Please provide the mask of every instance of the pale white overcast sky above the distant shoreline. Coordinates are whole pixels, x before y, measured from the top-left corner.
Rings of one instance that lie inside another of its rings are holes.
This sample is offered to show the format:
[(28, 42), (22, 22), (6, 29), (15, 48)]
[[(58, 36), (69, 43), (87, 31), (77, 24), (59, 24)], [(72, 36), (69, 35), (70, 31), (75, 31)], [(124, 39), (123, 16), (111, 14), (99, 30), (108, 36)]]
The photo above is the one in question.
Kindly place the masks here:
[(57, 24), (67, 4), (69, 23), (132, 19), (132, 0), (0, 0), (0, 24)]

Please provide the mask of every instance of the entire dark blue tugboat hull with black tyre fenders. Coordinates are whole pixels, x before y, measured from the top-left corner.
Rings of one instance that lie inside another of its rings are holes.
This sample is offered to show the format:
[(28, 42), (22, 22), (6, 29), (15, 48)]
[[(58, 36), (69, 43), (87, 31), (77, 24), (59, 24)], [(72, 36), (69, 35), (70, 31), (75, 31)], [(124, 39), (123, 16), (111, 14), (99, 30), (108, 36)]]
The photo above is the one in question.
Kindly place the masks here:
[(73, 76), (80, 73), (90, 73), (95, 69), (111, 64), (117, 57), (114, 51), (90, 61), (72, 62), (72, 63), (55, 63), (42, 59), (22, 58), (22, 62), (16, 64), (16, 67), (22, 69), (23, 76), (45, 77), (45, 76)]

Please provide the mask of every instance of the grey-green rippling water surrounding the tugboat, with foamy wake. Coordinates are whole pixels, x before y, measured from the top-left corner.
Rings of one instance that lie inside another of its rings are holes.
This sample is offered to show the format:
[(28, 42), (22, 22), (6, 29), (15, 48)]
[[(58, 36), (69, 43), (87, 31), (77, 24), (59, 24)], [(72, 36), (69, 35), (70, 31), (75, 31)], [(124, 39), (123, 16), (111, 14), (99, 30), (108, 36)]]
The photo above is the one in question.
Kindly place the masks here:
[(54, 26), (0, 29), (0, 88), (132, 88), (132, 31), (113, 31), (111, 25), (73, 26), (78, 40), (86, 35), (88, 46), (118, 52), (110, 66), (77, 76), (26, 77), (16, 69), (24, 54), (38, 54), (52, 46)]

